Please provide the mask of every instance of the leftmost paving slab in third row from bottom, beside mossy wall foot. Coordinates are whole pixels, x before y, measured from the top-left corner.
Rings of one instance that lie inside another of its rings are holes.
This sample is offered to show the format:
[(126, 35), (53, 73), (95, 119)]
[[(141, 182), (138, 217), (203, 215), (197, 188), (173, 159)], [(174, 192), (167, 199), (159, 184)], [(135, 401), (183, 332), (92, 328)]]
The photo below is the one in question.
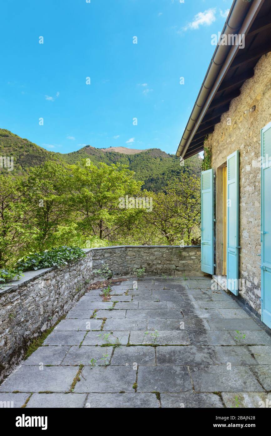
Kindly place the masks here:
[(39, 347), (29, 358), (23, 361), (23, 365), (60, 365), (70, 347)]

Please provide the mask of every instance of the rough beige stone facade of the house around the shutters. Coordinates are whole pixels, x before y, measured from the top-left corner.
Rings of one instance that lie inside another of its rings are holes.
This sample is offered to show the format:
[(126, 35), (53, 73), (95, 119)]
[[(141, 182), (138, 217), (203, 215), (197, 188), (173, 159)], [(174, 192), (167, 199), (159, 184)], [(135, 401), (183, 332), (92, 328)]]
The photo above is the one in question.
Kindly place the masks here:
[[(271, 52), (262, 56), (254, 77), (244, 82), (241, 95), (231, 102), (228, 112), (209, 135), (216, 202), (216, 274), (222, 275), (222, 166), (227, 156), (239, 150), (239, 278), (244, 298), (261, 312), (261, 128), (271, 121)], [(244, 114), (256, 106), (254, 112)]]

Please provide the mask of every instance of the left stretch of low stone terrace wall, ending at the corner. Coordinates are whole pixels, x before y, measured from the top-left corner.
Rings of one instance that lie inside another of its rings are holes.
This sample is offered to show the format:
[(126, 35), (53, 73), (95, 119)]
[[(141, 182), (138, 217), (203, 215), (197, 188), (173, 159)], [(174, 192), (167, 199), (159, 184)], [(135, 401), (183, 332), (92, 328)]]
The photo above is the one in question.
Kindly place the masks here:
[(84, 294), (91, 271), (90, 252), (64, 268), (25, 272), (0, 291), (0, 379), (24, 358), (30, 342)]

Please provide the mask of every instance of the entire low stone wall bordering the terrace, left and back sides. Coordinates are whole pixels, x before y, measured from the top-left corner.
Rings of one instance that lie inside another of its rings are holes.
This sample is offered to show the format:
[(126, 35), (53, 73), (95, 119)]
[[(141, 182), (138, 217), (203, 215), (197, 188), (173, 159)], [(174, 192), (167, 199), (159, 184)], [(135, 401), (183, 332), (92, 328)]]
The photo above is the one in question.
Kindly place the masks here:
[[(146, 273), (171, 275), (199, 272), (200, 247), (120, 246), (88, 249), (86, 257), (64, 268), (46, 268), (0, 290), (0, 379), (24, 358), (30, 342), (52, 327), (79, 300), (95, 269), (107, 264), (114, 276)], [(97, 279), (97, 276), (96, 276)]]

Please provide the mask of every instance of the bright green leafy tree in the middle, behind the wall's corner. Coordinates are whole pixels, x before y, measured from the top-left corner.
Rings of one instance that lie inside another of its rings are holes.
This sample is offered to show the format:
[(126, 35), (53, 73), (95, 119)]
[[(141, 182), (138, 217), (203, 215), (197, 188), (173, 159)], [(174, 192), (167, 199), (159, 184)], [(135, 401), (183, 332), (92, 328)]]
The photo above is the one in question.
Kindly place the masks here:
[(125, 228), (137, 211), (120, 207), (120, 198), (137, 195), (142, 182), (134, 180), (134, 172), (121, 164), (97, 166), (83, 160), (83, 166), (71, 165), (73, 193), (70, 207), (77, 214), (83, 234), (111, 240)]

